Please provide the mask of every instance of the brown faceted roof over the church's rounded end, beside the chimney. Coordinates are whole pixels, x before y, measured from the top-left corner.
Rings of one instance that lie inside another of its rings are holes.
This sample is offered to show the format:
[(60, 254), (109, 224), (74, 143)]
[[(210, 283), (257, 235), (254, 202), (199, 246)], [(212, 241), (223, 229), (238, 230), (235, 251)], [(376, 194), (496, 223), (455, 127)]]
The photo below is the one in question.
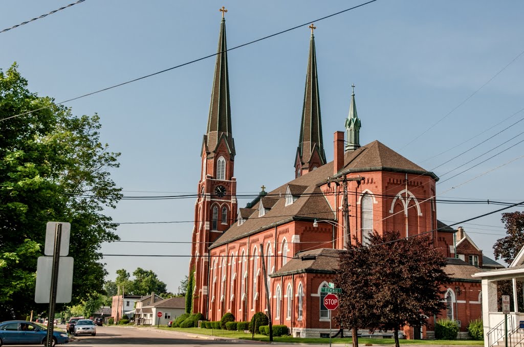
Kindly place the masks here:
[(422, 169), (419, 165), (404, 158), (385, 144), (375, 140), (354, 151), (344, 153), (344, 167), (336, 176), (349, 172), (392, 171), (428, 175), (438, 181), (438, 177)]

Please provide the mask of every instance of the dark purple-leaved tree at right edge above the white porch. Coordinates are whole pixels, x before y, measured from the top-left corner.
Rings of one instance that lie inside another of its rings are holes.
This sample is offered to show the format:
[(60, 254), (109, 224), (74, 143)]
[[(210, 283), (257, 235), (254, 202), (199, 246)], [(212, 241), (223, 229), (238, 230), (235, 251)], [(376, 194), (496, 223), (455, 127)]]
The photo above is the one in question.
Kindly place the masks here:
[(524, 212), (515, 211), (502, 214), (507, 236), (498, 239), (493, 246), (495, 259), (503, 258), (511, 263), (524, 246)]

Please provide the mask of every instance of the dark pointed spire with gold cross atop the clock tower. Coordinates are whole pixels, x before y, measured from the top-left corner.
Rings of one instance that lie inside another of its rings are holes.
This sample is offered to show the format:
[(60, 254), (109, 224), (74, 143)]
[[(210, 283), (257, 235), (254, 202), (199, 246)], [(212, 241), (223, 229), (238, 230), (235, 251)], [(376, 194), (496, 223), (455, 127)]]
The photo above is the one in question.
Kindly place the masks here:
[(217, 48), (213, 90), (209, 106), (208, 128), (206, 145), (208, 151), (216, 149), (220, 138), (225, 136), (231, 153), (235, 155), (233, 131), (231, 129), (231, 105), (229, 90), (229, 75), (227, 71), (226, 22), (224, 14), (227, 10), (222, 7), (222, 22), (220, 24), (219, 47)]

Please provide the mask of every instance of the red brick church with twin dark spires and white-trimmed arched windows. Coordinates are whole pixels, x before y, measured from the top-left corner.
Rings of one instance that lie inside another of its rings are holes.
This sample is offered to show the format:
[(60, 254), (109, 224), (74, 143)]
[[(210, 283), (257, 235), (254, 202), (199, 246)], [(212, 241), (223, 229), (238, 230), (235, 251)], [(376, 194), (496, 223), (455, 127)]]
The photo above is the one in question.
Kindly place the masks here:
[[(468, 321), (481, 317), (481, 283), (471, 274), (484, 266), (483, 261), (489, 268), (501, 265), (484, 260), (463, 229), (436, 219), (439, 178), (433, 172), (379, 141), (360, 144), (362, 125), (354, 91), (345, 131), (334, 132), (334, 160), (326, 162), (314, 27), (310, 28), (294, 178), (267, 192), (263, 187), (257, 198), (239, 208), (222, 18), (195, 203), (190, 262), (195, 281), (193, 312), (202, 312), (208, 320), (220, 320), (231, 312), (237, 321), (247, 321), (255, 312), (268, 313), (269, 297), (274, 324), (285, 324), (296, 337), (325, 336), (329, 315), (321, 288), (332, 281), (336, 257), (348, 240), (356, 237), (366, 242), (373, 230), (398, 230), (402, 236), (432, 230), (435, 247), (450, 258), (446, 272), (453, 274), (454, 281), (443, 288), (447, 310), (441, 317), (460, 320), (465, 331)], [(404, 333), (407, 338), (422, 338), (432, 329), (433, 318), (428, 329), (406, 327)]]

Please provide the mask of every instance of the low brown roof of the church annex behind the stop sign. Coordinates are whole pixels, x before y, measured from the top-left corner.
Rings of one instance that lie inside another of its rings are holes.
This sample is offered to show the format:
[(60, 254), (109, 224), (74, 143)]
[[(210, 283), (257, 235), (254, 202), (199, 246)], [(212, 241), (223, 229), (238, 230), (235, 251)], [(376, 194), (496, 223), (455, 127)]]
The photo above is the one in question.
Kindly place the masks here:
[(280, 277), (298, 273), (335, 273), (339, 268), (339, 254), (341, 250), (321, 248), (312, 251), (300, 252), (286, 265), (270, 275)]

